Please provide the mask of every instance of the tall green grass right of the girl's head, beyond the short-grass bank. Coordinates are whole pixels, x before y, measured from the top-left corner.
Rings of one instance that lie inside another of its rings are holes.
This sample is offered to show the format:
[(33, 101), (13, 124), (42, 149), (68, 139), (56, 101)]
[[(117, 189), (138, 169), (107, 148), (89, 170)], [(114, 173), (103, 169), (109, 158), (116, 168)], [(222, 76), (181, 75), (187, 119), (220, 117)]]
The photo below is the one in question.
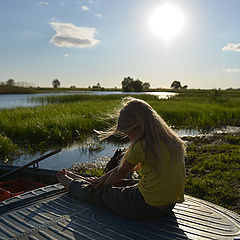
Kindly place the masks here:
[(185, 92), (152, 106), (172, 126), (210, 130), (240, 126), (240, 92)]

